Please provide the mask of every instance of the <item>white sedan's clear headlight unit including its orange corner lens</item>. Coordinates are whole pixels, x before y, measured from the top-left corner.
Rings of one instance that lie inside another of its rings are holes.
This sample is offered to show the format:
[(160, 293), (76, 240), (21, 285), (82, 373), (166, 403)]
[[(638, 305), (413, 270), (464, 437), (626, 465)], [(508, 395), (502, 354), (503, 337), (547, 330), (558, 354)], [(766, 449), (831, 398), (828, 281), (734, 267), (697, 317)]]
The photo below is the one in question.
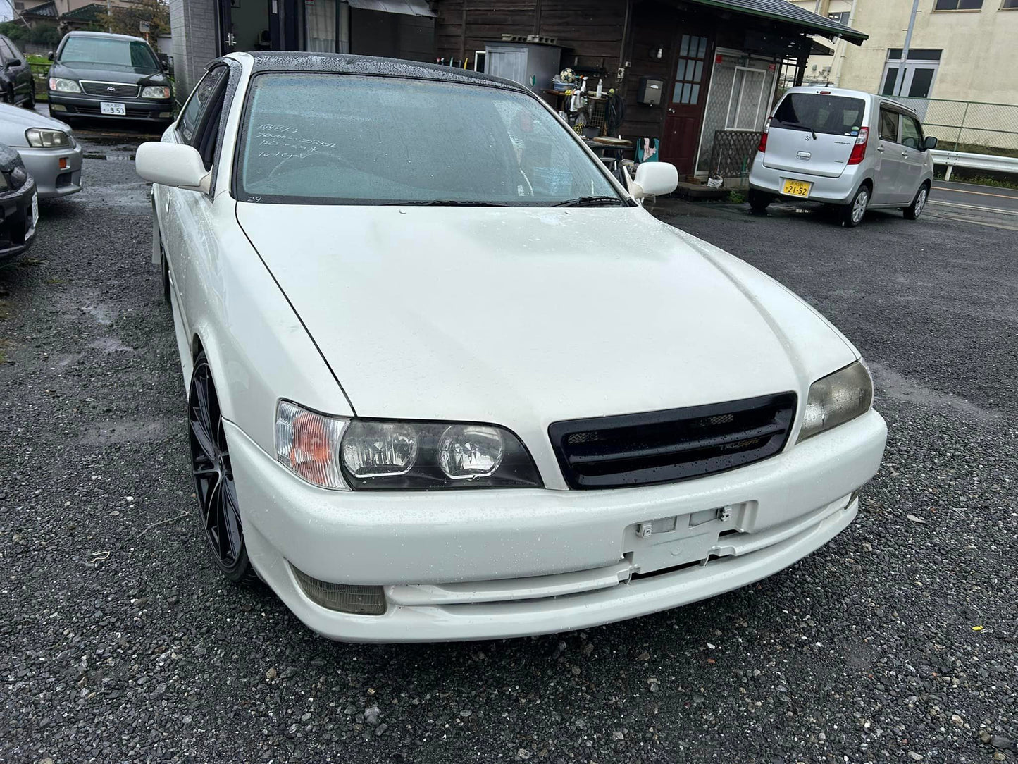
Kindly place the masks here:
[(494, 425), (327, 417), (289, 401), (276, 412), (276, 456), (340, 490), (540, 488), (519, 438)]

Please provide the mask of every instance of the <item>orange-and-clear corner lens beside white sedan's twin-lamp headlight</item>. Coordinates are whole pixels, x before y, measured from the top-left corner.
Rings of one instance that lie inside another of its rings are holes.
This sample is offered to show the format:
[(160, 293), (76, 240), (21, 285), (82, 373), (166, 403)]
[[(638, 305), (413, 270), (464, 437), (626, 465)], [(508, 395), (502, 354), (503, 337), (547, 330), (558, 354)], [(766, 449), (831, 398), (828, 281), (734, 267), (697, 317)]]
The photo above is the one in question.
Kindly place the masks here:
[(276, 406), (276, 458), (308, 483), (348, 490), (339, 467), (339, 441), (347, 423), (281, 400)]

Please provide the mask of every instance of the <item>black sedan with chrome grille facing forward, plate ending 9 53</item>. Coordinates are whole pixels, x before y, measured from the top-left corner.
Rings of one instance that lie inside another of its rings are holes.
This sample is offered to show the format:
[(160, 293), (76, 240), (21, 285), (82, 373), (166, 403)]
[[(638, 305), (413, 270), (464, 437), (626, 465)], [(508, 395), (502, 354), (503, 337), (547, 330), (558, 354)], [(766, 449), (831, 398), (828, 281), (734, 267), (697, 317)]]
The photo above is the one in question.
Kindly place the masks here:
[(105, 32), (71, 32), (50, 54), (50, 116), (129, 119), (169, 124), (173, 88), (145, 40)]

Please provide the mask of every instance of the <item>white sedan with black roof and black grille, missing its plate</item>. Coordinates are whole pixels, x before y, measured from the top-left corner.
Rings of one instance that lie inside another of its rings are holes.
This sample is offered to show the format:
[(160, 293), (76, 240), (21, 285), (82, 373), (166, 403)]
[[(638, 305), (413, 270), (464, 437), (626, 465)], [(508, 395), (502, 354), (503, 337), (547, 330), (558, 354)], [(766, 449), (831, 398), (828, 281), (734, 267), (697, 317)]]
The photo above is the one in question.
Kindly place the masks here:
[(858, 511), (858, 351), (638, 204), (530, 91), (231, 54), (160, 143), (164, 274), (209, 550), (315, 631), (562, 632), (770, 576)]

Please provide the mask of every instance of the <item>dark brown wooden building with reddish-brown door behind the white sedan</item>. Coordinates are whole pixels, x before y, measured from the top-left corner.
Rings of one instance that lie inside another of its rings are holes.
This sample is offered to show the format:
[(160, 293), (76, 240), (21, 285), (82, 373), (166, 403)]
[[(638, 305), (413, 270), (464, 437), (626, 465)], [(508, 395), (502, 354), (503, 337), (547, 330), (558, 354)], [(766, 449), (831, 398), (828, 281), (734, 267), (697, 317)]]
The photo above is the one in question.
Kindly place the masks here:
[[(782, 69), (794, 67), (801, 81), (806, 58), (825, 49), (811, 35), (866, 39), (785, 0), (432, 0), (431, 6), (436, 56), (453, 65), (482, 68), (477, 52), (504, 35), (554, 40), (562, 67), (586, 74), (590, 89), (601, 80), (606, 93), (616, 89), (624, 99), (619, 134), (659, 140), (660, 158), (686, 176), (717, 170), (726, 152), (729, 165), (733, 157), (745, 161)], [(662, 81), (659, 105), (637, 102), (641, 77)], [(531, 87), (561, 108), (563, 100), (546, 92), (549, 83)]]

